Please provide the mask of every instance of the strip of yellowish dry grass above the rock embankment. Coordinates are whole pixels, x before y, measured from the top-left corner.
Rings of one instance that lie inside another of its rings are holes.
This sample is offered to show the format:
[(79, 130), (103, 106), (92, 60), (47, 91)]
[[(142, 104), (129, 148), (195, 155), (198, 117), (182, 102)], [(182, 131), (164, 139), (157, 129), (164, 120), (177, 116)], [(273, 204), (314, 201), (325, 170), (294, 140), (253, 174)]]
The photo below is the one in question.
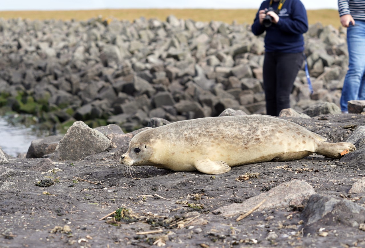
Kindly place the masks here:
[[(133, 21), (140, 17), (146, 19), (157, 18), (166, 20), (169, 15), (177, 18), (192, 19), (195, 21), (210, 22), (211, 20), (223, 21), (231, 24), (234, 20), (238, 23), (252, 23), (257, 9), (100, 9), (80, 11), (0, 11), (0, 18), (23, 19), (62, 19), (62, 20), (87, 20), (101, 15), (103, 18), (114, 17), (119, 20)], [(308, 22), (322, 23), (324, 26), (331, 24), (339, 27), (339, 17), (336, 9), (308, 10)]]

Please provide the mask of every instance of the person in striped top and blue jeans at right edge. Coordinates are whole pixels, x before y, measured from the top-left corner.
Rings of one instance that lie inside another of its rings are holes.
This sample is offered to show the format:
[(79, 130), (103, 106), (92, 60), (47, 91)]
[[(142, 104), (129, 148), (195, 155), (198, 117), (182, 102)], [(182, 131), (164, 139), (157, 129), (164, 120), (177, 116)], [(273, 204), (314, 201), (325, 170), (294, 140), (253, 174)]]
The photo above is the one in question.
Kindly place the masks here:
[(349, 69), (341, 94), (342, 113), (348, 113), (347, 101), (365, 100), (365, 5), (361, 0), (338, 0), (343, 27), (347, 27)]

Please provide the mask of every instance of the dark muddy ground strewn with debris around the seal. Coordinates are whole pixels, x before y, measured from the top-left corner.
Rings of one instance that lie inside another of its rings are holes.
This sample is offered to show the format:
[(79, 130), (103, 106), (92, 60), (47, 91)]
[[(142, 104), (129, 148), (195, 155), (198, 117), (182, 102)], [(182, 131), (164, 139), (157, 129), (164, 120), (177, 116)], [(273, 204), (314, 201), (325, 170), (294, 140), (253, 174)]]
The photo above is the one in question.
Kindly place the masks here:
[[(333, 142), (346, 141), (365, 123), (360, 114), (287, 119)], [(215, 176), (145, 166), (138, 170), (139, 179), (126, 178), (112, 159), (115, 150), (44, 167), (34, 166), (42, 159), (11, 158), (3, 166), (15, 174), (0, 177), (0, 247), (363, 247), (365, 232), (354, 227), (326, 226), (325, 237), (304, 235), (303, 206), (253, 212), (241, 221), (236, 221), (238, 216), (212, 213), (293, 179), (310, 183), (316, 193), (364, 206), (365, 193), (348, 194), (353, 182), (365, 175), (359, 144), (356, 152), (339, 160), (314, 154), (290, 162), (235, 167)], [(42, 174), (54, 167), (62, 171)], [(236, 180), (247, 172), (260, 175)], [(47, 178), (55, 183), (34, 185)], [(100, 220), (118, 209), (119, 217), (124, 214), (121, 220), (118, 216)]]

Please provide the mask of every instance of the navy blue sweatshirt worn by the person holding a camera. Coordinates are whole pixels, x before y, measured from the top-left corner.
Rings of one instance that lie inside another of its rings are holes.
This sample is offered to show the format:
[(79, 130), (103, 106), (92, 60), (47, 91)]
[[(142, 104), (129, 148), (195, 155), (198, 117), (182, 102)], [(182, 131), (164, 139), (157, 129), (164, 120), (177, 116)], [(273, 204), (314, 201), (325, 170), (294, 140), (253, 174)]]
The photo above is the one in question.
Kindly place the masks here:
[[(277, 9), (279, 2), (272, 4), (273, 9)], [(270, 7), (270, 0), (263, 1), (260, 9)], [(286, 0), (278, 13), (279, 22), (265, 28), (258, 19), (258, 12), (252, 32), (260, 35), (266, 30), (265, 51), (282, 53), (301, 53), (304, 51), (303, 34), (308, 30), (307, 11), (300, 0)]]

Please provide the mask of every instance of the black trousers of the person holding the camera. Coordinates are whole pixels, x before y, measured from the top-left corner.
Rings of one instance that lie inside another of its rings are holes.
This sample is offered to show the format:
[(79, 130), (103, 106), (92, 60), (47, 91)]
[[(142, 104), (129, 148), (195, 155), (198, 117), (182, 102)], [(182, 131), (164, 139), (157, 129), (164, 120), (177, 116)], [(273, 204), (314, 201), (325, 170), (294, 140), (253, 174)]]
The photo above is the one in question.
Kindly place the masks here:
[(290, 108), (290, 93), (303, 61), (303, 53), (265, 53), (263, 76), (267, 115), (278, 116), (282, 109)]

